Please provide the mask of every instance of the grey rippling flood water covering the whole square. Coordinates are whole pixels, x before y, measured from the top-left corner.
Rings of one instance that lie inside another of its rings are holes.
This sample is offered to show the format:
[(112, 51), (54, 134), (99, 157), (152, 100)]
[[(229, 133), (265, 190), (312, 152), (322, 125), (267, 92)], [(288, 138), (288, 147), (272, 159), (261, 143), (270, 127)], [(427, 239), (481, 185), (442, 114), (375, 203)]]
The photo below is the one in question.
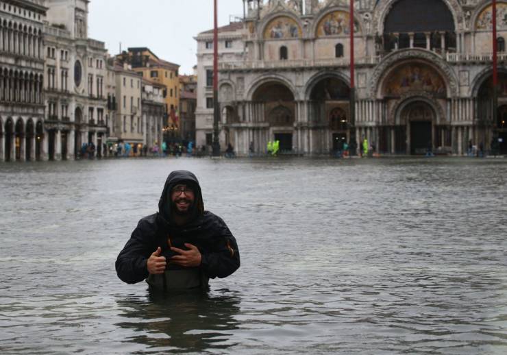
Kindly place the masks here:
[[(199, 177), (242, 265), (150, 295), (114, 261)], [(1, 354), (506, 354), (507, 159), (0, 164)]]

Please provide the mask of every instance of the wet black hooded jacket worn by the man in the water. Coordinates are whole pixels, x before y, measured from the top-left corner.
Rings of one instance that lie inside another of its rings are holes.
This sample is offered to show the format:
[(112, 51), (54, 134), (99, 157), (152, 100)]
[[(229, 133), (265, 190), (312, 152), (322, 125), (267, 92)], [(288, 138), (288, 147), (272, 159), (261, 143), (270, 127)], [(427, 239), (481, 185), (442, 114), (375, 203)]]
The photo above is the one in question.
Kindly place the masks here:
[[(195, 189), (193, 219), (183, 226), (171, 219), (170, 193), (176, 184), (192, 184)], [(116, 259), (118, 277), (129, 284), (149, 276), (147, 260), (158, 247), (168, 261), (175, 253), (170, 246), (187, 249), (184, 243), (195, 245), (201, 252), (201, 272), (208, 278), (225, 278), (240, 266), (236, 239), (225, 222), (212, 212), (204, 211), (201, 187), (190, 171), (173, 171), (167, 177), (158, 203), (158, 212), (141, 219), (132, 236)], [(182, 269), (175, 265), (172, 269)]]

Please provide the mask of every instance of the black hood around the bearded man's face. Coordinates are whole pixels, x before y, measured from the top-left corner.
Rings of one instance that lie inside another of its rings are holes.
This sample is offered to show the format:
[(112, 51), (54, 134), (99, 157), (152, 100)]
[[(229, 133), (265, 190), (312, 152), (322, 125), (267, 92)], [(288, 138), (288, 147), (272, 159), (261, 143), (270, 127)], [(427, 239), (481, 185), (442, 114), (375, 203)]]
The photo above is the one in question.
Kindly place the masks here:
[(193, 215), (193, 219), (197, 219), (204, 214), (204, 203), (202, 199), (201, 186), (199, 185), (199, 181), (197, 177), (186, 170), (176, 170), (169, 174), (166, 179), (166, 183), (164, 184), (164, 190), (162, 191), (162, 196), (160, 196), (160, 200), (158, 201), (158, 213), (159, 216), (164, 219), (164, 221), (173, 224), (173, 217), (171, 214), (171, 190), (177, 184), (190, 184), (194, 188), (194, 204), (192, 206), (192, 210), (190, 213)]

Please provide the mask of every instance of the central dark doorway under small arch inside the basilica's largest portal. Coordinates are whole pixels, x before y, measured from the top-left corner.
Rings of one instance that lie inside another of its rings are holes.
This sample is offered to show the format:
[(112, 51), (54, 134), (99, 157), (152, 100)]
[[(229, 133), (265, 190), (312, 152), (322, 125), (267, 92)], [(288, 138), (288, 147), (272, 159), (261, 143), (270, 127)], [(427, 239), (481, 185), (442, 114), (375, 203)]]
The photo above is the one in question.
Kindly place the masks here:
[(413, 101), (401, 110), (401, 121), (406, 123), (407, 151), (412, 155), (425, 154), (428, 149), (433, 151), (433, 123), (436, 114), (429, 103)]

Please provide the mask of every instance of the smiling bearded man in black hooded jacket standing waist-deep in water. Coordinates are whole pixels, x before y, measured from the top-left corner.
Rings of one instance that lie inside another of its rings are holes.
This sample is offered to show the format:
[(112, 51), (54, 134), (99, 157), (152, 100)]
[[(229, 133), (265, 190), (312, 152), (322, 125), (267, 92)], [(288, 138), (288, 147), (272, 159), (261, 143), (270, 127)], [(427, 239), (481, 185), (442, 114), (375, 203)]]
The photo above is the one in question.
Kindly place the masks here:
[(116, 259), (121, 280), (146, 279), (163, 291), (208, 289), (210, 278), (230, 276), (239, 266), (236, 239), (220, 217), (204, 210), (190, 171), (169, 174), (158, 212), (139, 221)]

